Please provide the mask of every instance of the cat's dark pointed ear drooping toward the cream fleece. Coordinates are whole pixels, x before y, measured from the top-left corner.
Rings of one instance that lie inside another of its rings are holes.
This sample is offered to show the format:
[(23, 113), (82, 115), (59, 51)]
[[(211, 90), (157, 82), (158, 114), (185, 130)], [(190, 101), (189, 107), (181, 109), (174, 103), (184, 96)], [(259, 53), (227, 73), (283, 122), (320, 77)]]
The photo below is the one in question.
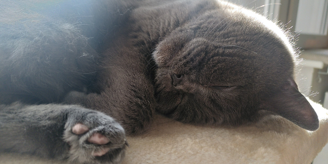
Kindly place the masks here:
[(263, 101), (262, 109), (274, 112), (306, 130), (317, 130), (319, 120), (309, 101), (290, 78), (281, 90)]

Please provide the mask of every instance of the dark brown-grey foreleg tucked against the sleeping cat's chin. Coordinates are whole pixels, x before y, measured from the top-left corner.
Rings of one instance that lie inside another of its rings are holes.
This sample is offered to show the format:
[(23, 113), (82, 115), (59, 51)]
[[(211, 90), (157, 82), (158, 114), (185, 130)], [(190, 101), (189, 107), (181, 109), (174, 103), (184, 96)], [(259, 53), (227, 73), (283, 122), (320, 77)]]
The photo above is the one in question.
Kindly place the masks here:
[(149, 59), (128, 47), (113, 48), (104, 55), (108, 58), (103, 63), (108, 67), (100, 69), (95, 85), (100, 93), (71, 91), (64, 103), (104, 112), (115, 118), (127, 134), (135, 135), (151, 127), (157, 103)]

